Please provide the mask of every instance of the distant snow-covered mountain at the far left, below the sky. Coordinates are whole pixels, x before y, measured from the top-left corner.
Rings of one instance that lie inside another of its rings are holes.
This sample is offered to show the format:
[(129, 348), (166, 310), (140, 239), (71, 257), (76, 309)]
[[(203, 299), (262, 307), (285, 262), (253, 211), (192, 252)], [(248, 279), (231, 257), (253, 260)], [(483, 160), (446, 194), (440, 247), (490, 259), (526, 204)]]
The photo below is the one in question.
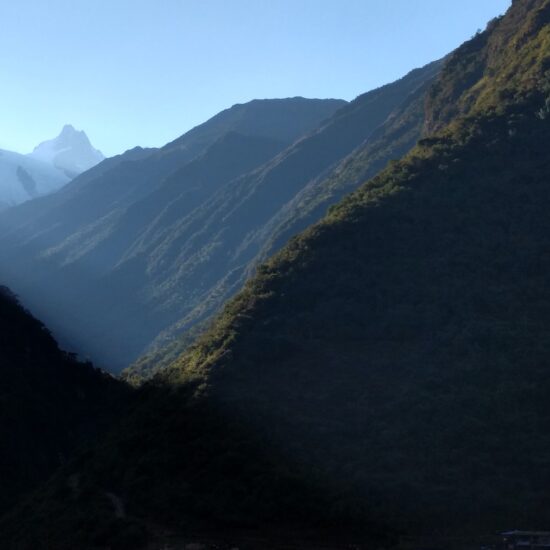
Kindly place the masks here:
[(0, 210), (57, 191), (104, 158), (70, 125), (29, 155), (0, 150)]

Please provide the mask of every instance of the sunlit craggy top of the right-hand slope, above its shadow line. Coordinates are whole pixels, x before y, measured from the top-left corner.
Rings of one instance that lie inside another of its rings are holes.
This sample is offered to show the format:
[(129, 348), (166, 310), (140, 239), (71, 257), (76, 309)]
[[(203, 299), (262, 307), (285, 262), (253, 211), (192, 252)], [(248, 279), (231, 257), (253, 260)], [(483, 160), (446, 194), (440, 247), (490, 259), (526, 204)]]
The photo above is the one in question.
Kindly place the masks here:
[(505, 18), (491, 21), (450, 56), (428, 101), (427, 128), (439, 130), (453, 117), (502, 113), (534, 93), (549, 93), (550, 6), (514, 2)]

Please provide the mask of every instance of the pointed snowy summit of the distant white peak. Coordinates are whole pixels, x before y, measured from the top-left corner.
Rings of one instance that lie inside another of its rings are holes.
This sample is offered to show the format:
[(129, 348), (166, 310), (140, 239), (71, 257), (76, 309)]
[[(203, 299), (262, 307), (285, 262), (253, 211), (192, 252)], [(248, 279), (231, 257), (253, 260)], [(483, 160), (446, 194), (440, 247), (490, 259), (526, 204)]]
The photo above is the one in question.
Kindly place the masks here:
[(103, 153), (92, 146), (86, 133), (75, 130), (70, 124), (63, 126), (54, 139), (37, 145), (29, 157), (54, 166), (70, 178), (105, 159)]

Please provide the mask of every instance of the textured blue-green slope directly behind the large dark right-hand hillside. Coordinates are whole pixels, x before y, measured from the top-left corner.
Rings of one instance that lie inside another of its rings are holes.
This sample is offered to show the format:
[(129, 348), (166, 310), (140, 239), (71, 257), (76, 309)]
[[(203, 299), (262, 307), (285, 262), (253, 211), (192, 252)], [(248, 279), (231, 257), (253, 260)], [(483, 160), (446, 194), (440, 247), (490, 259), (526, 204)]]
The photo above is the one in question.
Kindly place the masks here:
[[(194, 288), (189, 275), (182, 276), (180, 263), (190, 256), (192, 261), (187, 265), (197, 269), (192, 231), (200, 226), (208, 228), (209, 234), (220, 235), (215, 239), (217, 250), (212, 250), (211, 241), (198, 243), (203, 247), (199, 256), (203, 265), (198, 266), (198, 272), (201, 276), (206, 273), (210, 282), (197, 289), (195, 299), (175, 311), (176, 321), (124, 376), (140, 381), (164, 368), (203, 330), (209, 316), (254, 274), (260, 261), (318, 221), (330, 205), (375, 175), (388, 160), (408, 152), (422, 135), (425, 94), (440, 66), (441, 62), (432, 63), (358, 97), (324, 128), (287, 149), (264, 169), (233, 182), (214, 197), (216, 201), (194, 213), (199, 221), (187, 231), (191, 245), (186, 247), (183, 260), (178, 257), (178, 277), (186, 282), (181, 285), (183, 289)], [(346, 151), (351, 152), (346, 155)], [(341, 173), (345, 177), (339, 177)], [(266, 198), (270, 192), (277, 196)], [(171, 230), (181, 232), (177, 226)], [(230, 240), (227, 230), (237, 238)]]

